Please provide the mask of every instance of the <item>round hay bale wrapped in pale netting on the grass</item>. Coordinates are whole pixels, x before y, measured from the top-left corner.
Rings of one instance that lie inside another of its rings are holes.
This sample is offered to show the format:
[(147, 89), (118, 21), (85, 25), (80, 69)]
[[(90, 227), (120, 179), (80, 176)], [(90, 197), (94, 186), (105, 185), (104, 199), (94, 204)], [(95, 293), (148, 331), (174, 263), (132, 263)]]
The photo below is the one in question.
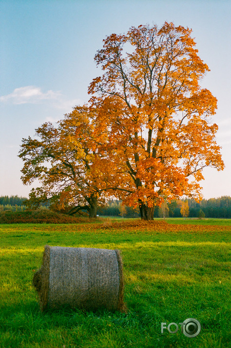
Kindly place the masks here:
[(41, 311), (67, 305), (126, 312), (119, 250), (46, 245), (33, 285)]

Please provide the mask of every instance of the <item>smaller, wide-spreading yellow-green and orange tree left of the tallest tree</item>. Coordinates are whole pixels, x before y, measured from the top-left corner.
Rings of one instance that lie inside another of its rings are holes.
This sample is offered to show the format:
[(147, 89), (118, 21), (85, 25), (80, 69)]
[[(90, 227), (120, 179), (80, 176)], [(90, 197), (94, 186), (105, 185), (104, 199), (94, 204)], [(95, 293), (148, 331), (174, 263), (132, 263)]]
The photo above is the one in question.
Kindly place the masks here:
[(36, 129), (35, 139), (22, 140), (22, 182), (40, 182), (32, 189), (27, 205), (37, 207), (50, 201), (54, 209), (69, 214), (87, 210), (90, 218), (96, 217), (98, 204), (106, 197), (109, 177), (112, 179), (116, 171), (99, 151), (104, 135), (94, 132), (95, 118), (95, 110), (76, 107), (58, 122), (58, 127), (44, 123)]

